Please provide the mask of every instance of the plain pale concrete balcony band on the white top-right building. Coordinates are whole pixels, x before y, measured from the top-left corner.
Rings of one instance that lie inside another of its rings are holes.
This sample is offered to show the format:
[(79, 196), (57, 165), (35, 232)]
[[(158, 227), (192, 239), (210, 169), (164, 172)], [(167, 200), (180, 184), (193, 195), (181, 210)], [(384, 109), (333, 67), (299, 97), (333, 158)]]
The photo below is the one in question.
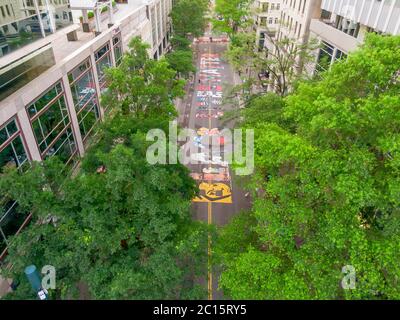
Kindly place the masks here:
[(361, 44), (357, 38), (336, 29), (329, 21), (312, 19), (310, 31), (314, 36), (334, 45), (343, 52), (350, 52)]

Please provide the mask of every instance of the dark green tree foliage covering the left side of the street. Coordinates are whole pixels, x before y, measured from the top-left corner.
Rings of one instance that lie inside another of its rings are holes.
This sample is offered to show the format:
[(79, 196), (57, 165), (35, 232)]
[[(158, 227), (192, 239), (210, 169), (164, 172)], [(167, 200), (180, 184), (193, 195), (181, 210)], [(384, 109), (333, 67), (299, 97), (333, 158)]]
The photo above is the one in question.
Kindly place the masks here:
[[(181, 92), (166, 61), (152, 61), (139, 39), (120, 67), (107, 71), (104, 102), (113, 108), (79, 170), (64, 175), (51, 158), (27, 172), (6, 168), (0, 193), (31, 223), (11, 238), (2, 276), (20, 283), (6, 299), (35, 299), (24, 269), (56, 268), (51, 299), (200, 299), (194, 280), (207, 265), (208, 228), (193, 222), (195, 181), (183, 165), (150, 165), (146, 134), (168, 132), (172, 99)], [(64, 170), (64, 171), (63, 171)]]

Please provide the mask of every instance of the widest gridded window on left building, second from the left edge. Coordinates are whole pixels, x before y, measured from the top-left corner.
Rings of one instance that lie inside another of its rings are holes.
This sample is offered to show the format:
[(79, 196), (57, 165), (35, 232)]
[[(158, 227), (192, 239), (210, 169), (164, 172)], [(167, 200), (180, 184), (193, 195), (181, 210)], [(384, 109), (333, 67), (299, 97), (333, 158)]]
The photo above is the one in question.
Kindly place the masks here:
[(26, 108), (42, 159), (59, 156), (70, 164), (76, 161), (76, 143), (61, 83)]

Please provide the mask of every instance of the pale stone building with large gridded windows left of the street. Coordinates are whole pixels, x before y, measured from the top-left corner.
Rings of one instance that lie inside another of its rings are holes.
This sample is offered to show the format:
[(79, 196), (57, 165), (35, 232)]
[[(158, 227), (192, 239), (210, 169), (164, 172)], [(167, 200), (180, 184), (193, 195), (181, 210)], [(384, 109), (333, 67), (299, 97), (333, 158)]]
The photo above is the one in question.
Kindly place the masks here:
[[(107, 116), (105, 68), (135, 36), (154, 58), (168, 50), (172, 0), (116, 2), (0, 0), (0, 173), (55, 155), (74, 166)], [(16, 207), (0, 195), (0, 261), (30, 219)]]

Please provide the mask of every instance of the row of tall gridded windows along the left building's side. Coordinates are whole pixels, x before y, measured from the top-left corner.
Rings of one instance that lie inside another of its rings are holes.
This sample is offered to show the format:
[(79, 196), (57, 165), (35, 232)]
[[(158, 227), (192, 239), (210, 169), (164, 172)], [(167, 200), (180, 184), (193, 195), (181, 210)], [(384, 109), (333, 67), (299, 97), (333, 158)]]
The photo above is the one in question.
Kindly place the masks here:
[[(116, 63), (122, 60), (121, 35), (113, 38)], [(112, 66), (110, 45), (106, 44), (95, 53), (96, 70), (102, 90), (106, 90), (105, 69)], [(74, 109), (83, 142), (87, 141), (95, 124), (100, 120), (99, 97), (94, 81), (90, 58), (68, 73)], [(78, 161), (78, 149), (67, 107), (63, 84), (57, 82), (33, 103), (26, 107), (34, 137), (42, 159), (58, 156), (66, 165)], [(0, 127), (0, 174), (7, 166), (25, 170), (29, 157), (23, 135), (16, 118)], [(0, 196), (0, 257), (5, 252), (9, 237), (16, 234), (27, 222), (29, 213), (19, 212), (18, 205), (6, 195)]]

